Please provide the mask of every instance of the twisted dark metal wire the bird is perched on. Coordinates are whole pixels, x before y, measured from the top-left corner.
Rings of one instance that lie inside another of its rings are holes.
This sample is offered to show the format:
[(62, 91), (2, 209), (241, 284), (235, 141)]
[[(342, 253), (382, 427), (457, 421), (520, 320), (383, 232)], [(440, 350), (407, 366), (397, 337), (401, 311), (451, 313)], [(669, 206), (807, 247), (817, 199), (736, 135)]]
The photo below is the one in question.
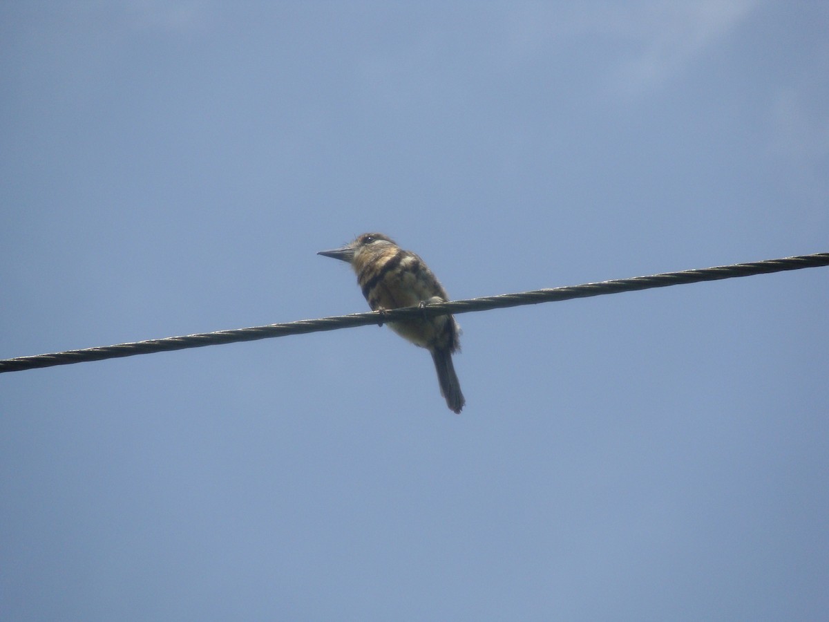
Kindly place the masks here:
[(107, 358), (132, 357), (136, 354), (150, 354), (152, 352), (170, 352), (184, 350), (189, 347), (213, 346), (220, 343), (237, 343), (266, 339), (271, 337), (286, 337), (287, 335), (301, 335), (317, 333), (337, 328), (352, 328), (367, 324), (382, 324), (405, 318), (432, 317), (446, 313), (470, 313), (473, 311), (487, 311), (488, 309), (504, 309), (518, 307), (523, 304), (539, 304), (576, 298), (589, 298), (604, 294), (621, 294), (641, 289), (668, 287), (703, 281), (733, 279), (739, 276), (766, 275), (784, 270), (800, 270), (829, 265), (829, 253), (814, 255), (797, 255), (777, 260), (755, 261), (749, 264), (719, 265), (714, 268), (701, 270), (683, 270), (681, 272), (667, 272), (661, 275), (637, 276), (633, 279), (617, 279), (600, 283), (585, 283), (570, 287), (556, 287), (552, 289), (535, 289), (520, 294), (500, 294), (486, 298), (467, 300), (453, 300), (448, 303), (425, 304), (422, 307), (406, 307), (405, 309), (389, 309), (386, 311), (371, 311), (369, 313), (352, 313), (351, 315), (337, 315), (330, 318), (303, 319), (298, 322), (268, 324), (253, 328), (237, 328), (235, 330), (221, 330), (216, 333), (196, 333), (185, 337), (167, 337), (150, 339), (133, 343), (119, 343), (114, 346), (87, 347), (82, 350), (68, 350), (51, 354), (37, 354), (32, 357), (17, 357), (0, 360), (0, 373), (20, 372), (24, 369), (39, 367), (54, 367), (69, 365), (70, 363), (102, 361)]

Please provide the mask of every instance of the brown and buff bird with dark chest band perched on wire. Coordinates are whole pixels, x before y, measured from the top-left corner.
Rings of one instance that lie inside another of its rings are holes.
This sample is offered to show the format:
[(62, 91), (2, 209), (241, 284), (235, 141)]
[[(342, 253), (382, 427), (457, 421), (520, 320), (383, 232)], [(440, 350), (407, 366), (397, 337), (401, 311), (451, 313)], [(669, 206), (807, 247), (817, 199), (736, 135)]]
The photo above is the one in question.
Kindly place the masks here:
[[(432, 270), (410, 250), (403, 250), (389, 236), (364, 233), (341, 248), (321, 250), (318, 255), (351, 265), (373, 311), (447, 302), (449, 297)], [(452, 362), (460, 350), (460, 326), (452, 315), (395, 320), (395, 333), (432, 354), (438, 372), (440, 395), (450, 411), (460, 414), (466, 400)]]

